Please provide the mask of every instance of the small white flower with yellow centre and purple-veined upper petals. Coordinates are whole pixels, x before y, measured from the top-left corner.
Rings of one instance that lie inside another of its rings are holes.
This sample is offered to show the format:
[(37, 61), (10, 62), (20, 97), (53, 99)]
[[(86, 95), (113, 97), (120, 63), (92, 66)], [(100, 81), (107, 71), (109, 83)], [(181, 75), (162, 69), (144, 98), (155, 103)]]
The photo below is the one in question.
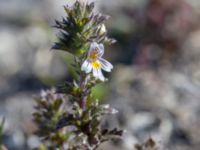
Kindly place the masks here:
[(103, 54), (103, 44), (97, 44), (96, 42), (91, 43), (87, 59), (83, 62), (81, 70), (86, 73), (92, 72), (95, 78), (104, 81), (105, 77), (103, 76), (101, 69), (106, 72), (111, 72), (113, 65), (102, 58)]

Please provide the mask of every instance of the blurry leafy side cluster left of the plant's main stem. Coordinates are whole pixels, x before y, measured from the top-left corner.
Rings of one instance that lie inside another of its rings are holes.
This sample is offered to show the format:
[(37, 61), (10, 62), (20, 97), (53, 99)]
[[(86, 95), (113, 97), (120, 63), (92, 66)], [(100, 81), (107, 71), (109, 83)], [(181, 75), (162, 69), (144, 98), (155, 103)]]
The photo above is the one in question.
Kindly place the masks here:
[(35, 97), (37, 111), (33, 113), (33, 117), (38, 125), (36, 134), (52, 142), (46, 144), (49, 149), (59, 147), (67, 139), (65, 134), (56, 129), (57, 122), (66, 115), (66, 99), (64, 95), (56, 94), (55, 90), (42, 91), (40, 97)]

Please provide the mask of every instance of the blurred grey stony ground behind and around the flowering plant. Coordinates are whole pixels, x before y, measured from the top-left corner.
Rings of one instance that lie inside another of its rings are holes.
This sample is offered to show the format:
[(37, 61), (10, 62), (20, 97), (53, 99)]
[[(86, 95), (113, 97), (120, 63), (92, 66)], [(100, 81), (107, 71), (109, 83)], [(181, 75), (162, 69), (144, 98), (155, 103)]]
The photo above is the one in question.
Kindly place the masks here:
[[(33, 96), (70, 76), (68, 56), (51, 51), (55, 19), (73, 0), (0, 0), (0, 119), (9, 150), (29, 150)], [(200, 149), (200, 1), (97, 0), (111, 16), (110, 81), (94, 93), (119, 110), (105, 126), (126, 129), (105, 150), (133, 150), (152, 137), (160, 149)]]

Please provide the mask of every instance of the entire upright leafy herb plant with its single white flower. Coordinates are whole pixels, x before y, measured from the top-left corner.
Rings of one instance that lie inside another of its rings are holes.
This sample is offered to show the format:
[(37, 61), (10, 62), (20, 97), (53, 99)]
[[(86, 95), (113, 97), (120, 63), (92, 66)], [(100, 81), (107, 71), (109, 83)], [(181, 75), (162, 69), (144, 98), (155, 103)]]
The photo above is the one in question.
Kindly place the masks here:
[(106, 15), (94, 12), (94, 3), (76, 1), (64, 6), (66, 17), (56, 20), (58, 42), (53, 50), (73, 55), (77, 78), (35, 97), (33, 118), (42, 139), (40, 150), (95, 150), (100, 144), (120, 137), (122, 130), (103, 129), (103, 116), (118, 111), (100, 104), (91, 90), (107, 81), (102, 70), (111, 72), (113, 65), (103, 59), (104, 45), (113, 44), (107, 37)]

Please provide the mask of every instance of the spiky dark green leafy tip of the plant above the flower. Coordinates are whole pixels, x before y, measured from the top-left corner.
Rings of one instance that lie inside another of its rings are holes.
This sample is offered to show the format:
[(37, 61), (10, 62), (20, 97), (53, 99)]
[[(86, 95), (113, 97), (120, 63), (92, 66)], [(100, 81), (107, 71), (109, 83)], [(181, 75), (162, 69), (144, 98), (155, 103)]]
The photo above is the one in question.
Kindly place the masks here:
[(106, 31), (102, 31), (103, 23), (109, 17), (95, 14), (94, 3), (84, 4), (76, 1), (72, 7), (64, 6), (64, 9), (67, 16), (61, 21), (56, 20), (54, 27), (60, 29), (59, 41), (52, 49), (80, 54), (88, 50), (89, 43), (92, 41), (105, 44), (115, 42), (106, 36)]

